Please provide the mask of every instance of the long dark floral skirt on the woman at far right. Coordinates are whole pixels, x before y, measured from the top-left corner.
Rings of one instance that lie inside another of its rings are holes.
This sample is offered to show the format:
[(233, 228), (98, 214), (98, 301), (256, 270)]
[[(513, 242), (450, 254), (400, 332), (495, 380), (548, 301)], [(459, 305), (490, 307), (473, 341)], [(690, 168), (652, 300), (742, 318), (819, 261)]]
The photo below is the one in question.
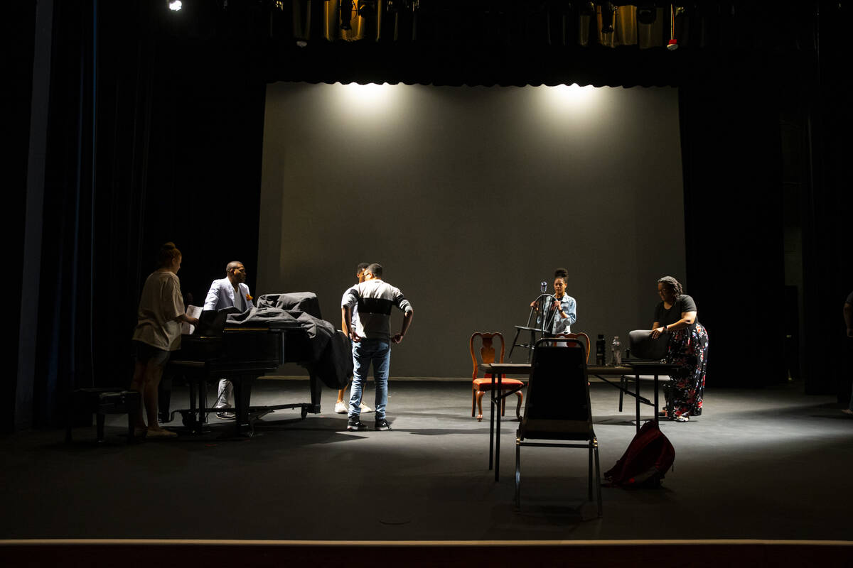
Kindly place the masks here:
[(673, 415), (702, 414), (702, 395), (705, 393), (705, 369), (708, 366), (708, 332), (702, 324), (693, 324), (673, 332), (667, 347), (666, 362), (679, 369), (670, 375), (672, 382), (664, 394), (672, 405)]

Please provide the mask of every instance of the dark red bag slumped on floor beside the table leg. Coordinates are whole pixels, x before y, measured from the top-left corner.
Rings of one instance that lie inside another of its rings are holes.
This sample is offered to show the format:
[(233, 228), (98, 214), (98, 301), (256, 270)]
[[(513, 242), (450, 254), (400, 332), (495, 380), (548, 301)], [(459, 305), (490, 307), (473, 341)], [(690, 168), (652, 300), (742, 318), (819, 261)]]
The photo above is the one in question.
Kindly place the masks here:
[(659, 487), (676, 461), (676, 449), (650, 420), (640, 428), (616, 465), (604, 473), (612, 487)]

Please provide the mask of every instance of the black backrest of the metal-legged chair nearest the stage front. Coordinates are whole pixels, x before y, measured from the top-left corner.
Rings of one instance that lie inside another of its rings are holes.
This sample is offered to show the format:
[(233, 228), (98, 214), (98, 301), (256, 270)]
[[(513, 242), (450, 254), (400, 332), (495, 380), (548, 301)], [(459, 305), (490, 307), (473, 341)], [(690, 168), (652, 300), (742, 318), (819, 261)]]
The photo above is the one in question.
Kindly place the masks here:
[[(565, 342), (565, 346), (554, 343)], [(583, 344), (571, 337), (548, 337), (536, 343), (527, 383), (524, 422), (592, 424)]]

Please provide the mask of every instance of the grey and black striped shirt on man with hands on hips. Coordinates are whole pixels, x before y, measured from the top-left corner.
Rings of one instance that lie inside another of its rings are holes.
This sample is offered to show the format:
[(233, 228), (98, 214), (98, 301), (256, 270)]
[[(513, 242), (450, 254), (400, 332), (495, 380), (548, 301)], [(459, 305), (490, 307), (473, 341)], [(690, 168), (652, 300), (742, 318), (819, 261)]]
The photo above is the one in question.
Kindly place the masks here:
[(358, 308), (356, 333), (368, 339), (391, 339), (391, 308), (397, 306), (404, 313), (413, 310), (412, 305), (398, 288), (373, 278), (356, 284), (344, 292), (340, 307)]

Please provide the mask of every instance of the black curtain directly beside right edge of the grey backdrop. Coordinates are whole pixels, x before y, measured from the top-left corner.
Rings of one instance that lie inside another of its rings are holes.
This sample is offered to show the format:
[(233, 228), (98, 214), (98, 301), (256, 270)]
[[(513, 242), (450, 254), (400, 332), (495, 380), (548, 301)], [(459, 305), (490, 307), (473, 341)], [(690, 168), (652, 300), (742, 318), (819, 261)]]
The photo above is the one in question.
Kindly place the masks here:
[(709, 335), (708, 386), (786, 380), (778, 94), (763, 83), (679, 89), (687, 293)]

